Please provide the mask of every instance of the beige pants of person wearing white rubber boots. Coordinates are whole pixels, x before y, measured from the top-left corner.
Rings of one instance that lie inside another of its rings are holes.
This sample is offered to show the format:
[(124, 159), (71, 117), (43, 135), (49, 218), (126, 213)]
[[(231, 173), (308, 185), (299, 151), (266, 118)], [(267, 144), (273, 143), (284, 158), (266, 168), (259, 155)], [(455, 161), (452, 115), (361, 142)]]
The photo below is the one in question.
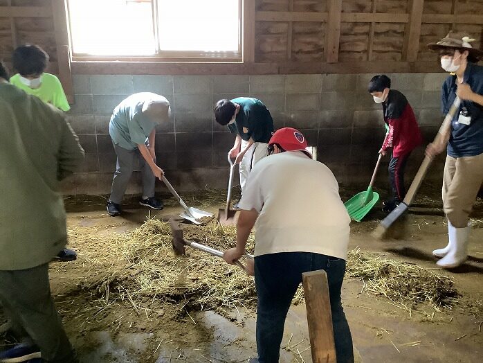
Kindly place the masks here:
[(443, 206), (446, 217), (456, 228), (468, 225), (476, 195), (483, 183), (483, 154), (475, 157), (449, 155), (444, 164)]

